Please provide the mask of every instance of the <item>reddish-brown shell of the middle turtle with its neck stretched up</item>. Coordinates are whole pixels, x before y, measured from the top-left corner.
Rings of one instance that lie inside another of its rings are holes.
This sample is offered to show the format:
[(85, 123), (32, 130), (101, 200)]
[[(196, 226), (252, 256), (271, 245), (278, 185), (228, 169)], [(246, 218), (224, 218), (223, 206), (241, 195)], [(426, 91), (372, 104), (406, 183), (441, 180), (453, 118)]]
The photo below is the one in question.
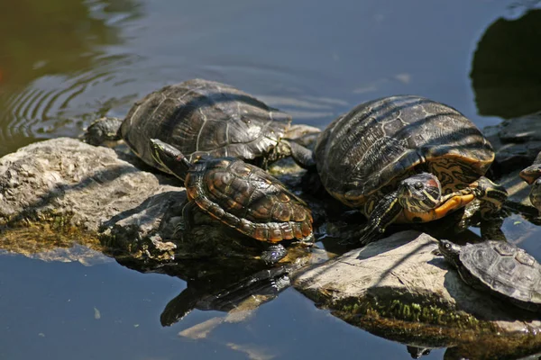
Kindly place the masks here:
[(195, 165), (186, 177), (188, 198), (229, 226), (271, 242), (312, 233), (306, 203), (259, 167), (232, 157)]

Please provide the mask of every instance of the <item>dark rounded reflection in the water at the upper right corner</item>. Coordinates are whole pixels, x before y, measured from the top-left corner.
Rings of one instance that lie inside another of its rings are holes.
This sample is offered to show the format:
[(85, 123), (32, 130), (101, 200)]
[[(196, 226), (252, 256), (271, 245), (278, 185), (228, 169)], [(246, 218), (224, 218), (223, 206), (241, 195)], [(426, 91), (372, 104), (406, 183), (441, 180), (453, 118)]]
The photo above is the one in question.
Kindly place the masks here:
[(509, 119), (541, 110), (541, 9), (517, 20), (498, 19), (484, 32), (472, 59), (478, 112)]

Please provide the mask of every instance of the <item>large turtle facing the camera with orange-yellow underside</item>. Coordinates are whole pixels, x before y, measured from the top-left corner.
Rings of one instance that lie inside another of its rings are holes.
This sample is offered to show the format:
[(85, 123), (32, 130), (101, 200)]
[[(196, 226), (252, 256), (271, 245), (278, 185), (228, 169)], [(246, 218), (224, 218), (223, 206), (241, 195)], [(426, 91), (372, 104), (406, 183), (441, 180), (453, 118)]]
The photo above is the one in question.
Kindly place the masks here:
[(483, 176), (494, 151), (481, 131), (453, 108), (419, 96), (356, 106), (321, 133), (314, 157), (328, 193), (369, 217), (362, 244), (393, 221), (436, 220), (474, 198), (487, 217), (507, 197)]

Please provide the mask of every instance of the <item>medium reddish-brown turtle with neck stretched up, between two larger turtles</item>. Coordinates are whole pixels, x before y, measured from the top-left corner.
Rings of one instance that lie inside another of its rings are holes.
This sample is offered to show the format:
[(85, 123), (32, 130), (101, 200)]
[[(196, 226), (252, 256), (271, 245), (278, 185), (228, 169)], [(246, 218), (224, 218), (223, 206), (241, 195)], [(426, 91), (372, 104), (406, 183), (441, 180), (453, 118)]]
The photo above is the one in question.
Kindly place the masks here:
[(192, 208), (197, 205), (244, 235), (270, 243), (261, 256), (269, 263), (286, 255), (280, 241), (313, 239), (307, 204), (261, 168), (235, 157), (199, 157), (190, 163), (177, 148), (159, 139), (150, 141), (156, 162), (184, 182), (185, 225), (190, 225)]

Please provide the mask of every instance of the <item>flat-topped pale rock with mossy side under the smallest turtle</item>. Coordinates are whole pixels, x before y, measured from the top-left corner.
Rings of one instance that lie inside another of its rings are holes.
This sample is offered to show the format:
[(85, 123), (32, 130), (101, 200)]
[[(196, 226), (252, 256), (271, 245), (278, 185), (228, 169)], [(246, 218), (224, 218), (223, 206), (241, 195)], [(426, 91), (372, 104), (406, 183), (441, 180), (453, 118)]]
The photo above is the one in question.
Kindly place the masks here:
[(293, 284), (335, 316), (405, 344), (442, 347), (500, 338), (509, 347), (541, 345), (536, 314), (464, 284), (435, 255), (436, 244), (424, 233), (399, 232), (315, 266)]

